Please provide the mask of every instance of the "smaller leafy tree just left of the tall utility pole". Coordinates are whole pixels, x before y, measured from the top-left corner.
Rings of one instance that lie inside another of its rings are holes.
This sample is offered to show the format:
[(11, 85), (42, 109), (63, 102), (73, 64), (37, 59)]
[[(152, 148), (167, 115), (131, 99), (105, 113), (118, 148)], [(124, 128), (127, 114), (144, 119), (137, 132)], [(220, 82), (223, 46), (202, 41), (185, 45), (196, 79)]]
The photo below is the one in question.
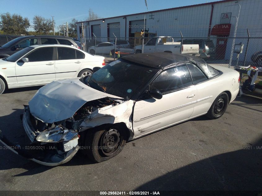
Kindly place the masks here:
[[(55, 21), (54, 21), (55, 23)], [(38, 34), (46, 34), (48, 35), (48, 33), (51, 31), (51, 30), (54, 30), (54, 26), (55, 24), (52, 23), (52, 20), (51, 19), (46, 19), (42, 16), (38, 16), (38, 15), (35, 15), (33, 17), (33, 28), (34, 30), (38, 33)]]

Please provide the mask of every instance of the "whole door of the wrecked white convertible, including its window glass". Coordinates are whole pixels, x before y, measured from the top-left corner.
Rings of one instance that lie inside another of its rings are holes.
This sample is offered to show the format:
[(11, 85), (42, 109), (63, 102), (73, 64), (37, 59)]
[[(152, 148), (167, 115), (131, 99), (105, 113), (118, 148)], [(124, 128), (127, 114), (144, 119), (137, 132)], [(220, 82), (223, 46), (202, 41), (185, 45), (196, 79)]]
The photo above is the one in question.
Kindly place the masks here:
[(197, 101), (197, 89), (185, 64), (163, 71), (150, 84), (158, 89), (161, 99), (143, 98), (135, 102), (133, 129), (135, 137), (188, 119)]

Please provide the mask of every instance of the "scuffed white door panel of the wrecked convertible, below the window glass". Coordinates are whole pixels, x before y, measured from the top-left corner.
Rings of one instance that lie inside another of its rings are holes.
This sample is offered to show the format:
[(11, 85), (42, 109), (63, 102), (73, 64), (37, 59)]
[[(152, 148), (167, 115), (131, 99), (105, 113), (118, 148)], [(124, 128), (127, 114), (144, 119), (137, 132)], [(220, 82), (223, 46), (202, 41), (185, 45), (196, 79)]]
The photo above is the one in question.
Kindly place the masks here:
[(165, 128), (188, 119), (197, 101), (194, 85), (163, 95), (162, 99), (146, 99), (135, 102), (133, 129), (135, 137)]

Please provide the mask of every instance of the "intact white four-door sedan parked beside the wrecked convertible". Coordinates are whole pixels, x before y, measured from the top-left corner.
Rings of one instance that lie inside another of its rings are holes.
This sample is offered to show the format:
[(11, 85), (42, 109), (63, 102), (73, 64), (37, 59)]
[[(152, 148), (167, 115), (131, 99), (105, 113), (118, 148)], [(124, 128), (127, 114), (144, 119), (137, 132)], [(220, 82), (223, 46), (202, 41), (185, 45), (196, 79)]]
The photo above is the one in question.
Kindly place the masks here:
[(6, 88), (45, 85), (86, 76), (105, 65), (104, 57), (73, 46), (34, 45), (0, 59), (0, 94)]

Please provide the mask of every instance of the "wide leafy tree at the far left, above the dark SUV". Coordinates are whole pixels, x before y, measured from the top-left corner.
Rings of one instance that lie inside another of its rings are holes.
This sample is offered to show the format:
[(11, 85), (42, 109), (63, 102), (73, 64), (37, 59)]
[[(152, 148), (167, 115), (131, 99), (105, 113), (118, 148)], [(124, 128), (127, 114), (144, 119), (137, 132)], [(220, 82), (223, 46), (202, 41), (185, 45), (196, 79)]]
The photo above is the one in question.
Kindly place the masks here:
[(29, 19), (19, 14), (11, 15), (9, 12), (0, 15), (0, 29), (7, 34), (27, 34), (30, 26)]

